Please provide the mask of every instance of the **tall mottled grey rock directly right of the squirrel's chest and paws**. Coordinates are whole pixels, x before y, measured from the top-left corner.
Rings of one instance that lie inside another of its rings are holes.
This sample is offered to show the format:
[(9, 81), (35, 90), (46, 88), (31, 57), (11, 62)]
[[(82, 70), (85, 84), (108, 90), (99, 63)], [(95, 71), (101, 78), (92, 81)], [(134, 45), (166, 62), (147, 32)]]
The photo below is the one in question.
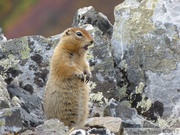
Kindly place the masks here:
[(92, 81), (95, 82), (96, 86), (92, 92), (102, 92), (107, 99), (118, 98), (110, 42), (98, 29), (93, 37), (95, 45), (92, 49), (90, 64), (92, 66)]

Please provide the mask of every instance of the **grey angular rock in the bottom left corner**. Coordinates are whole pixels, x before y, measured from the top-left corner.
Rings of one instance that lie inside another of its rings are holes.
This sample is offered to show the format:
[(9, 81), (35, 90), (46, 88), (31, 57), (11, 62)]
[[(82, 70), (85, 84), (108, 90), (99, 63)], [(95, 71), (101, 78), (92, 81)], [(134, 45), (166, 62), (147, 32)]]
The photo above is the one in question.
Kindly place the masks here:
[(19, 133), (40, 125), (43, 120), (21, 107), (11, 107), (0, 110), (0, 122), (2, 127), (0, 132)]

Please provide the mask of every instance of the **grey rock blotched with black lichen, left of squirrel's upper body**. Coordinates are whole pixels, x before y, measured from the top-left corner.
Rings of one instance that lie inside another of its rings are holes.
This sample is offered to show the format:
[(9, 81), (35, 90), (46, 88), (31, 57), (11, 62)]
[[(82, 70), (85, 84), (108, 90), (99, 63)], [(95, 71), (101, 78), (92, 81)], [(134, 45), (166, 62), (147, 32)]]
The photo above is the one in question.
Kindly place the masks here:
[(42, 97), (53, 46), (50, 39), (42, 36), (8, 40), (0, 49), (4, 55), (0, 59), (0, 73), (8, 84)]

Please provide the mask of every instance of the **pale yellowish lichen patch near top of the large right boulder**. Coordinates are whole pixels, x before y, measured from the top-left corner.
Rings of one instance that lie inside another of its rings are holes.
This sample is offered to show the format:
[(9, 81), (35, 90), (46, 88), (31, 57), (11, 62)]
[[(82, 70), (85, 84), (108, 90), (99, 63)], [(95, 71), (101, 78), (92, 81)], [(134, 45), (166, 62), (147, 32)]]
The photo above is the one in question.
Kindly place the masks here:
[(150, 18), (153, 16), (154, 9), (147, 9), (146, 3), (143, 3), (139, 8), (130, 8), (132, 18), (129, 18), (124, 24), (122, 39), (131, 43), (141, 35), (154, 30), (154, 25)]

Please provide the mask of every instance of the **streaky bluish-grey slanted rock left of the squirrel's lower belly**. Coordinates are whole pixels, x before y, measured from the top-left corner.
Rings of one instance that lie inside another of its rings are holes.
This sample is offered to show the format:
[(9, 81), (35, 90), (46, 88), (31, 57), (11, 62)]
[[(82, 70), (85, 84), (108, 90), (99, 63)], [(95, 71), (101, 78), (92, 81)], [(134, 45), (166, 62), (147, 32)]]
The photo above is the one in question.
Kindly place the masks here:
[(19, 105), (24, 116), (24, 127), (36, 127), (43, 123), (42, 101), (38, 96), (16, 86), (8, 86), (8, 92), (11, 97), (18, 97), (21, 101)]

